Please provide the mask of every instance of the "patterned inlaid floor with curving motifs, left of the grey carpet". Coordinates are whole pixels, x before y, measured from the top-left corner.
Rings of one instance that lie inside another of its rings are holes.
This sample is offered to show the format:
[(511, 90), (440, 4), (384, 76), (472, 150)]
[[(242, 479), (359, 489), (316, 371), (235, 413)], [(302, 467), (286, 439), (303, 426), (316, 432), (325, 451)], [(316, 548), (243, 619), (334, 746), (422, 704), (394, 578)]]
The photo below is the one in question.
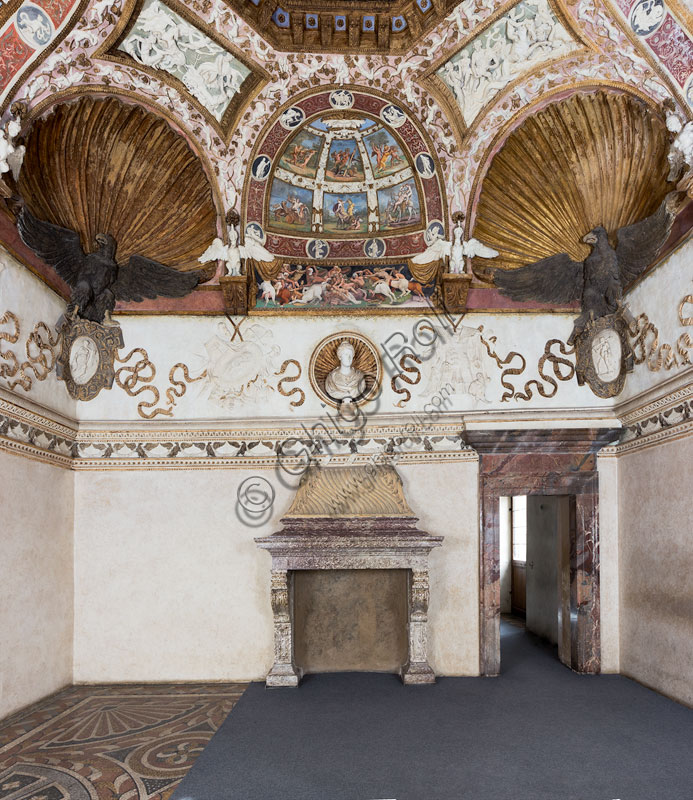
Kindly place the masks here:
[(0, 800), (168, 800), (245, 688), (64, 689), (0, 722)]

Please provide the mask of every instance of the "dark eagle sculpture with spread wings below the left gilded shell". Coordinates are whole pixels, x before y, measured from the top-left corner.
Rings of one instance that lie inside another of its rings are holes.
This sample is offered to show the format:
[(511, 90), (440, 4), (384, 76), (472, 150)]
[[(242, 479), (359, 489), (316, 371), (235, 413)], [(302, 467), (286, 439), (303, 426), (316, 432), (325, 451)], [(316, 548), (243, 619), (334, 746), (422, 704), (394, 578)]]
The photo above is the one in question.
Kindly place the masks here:
[(108, 233), (97, 233), (97, 250), (85, 253), (78, 233), (37, 219), (25, 205), (17, 216), (17, 229), (24, 244), (69, 285), (68, 314), (100, 324), (117, 324), (111, 320), (117, 300), (183, 297), (203, 275), (200, 271), (181, 272), (140, 255), (118, 264), (117, 243)]

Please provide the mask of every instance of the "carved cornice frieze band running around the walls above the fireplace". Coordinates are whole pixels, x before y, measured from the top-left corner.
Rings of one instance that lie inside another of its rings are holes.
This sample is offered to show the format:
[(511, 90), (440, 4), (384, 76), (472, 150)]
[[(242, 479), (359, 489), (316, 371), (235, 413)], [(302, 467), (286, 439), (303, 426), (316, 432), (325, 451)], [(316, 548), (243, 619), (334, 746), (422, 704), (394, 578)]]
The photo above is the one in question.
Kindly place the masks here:
[[(693, 433), (693, 381), (670, 385), (670, 393), (643, 393), (644, 404), (620, 419), (627, 423), (617, 444), (602, 448), (618, 455)], [(510, 420), (508, 420), (510, 422)], [(513, 426), (511, 426), (513, 427)], [(505, 426), (504, 426), (505, 430)], [(530, 435), (509, 428), (506, 435)], [(580, 435), (575, 431), (574, 436)], [(566, 429), (561, 447), (573, 434)], [(416, 415), (384, 415), (377, 422), (339, 426), (334, 416), (268, 421), (262, 426), (235, 422), (214, 427), (117, 425), (110, 430), (72, 426), (37, 407), (26, 408), (0, 396), (0, 450), (73, 470), (106, 469), (273, 469), (300, 474), (309, 464), (358, 466), (369, 463), (425, 464), (476, 461), (488, 438), (503, 448), (498, 429), (468, 430), (463, 415), (431, 423)], [(566, 438), (567, 437), (567, 438)], [(507, 436), (506, 436), (507, 438)], [(475, 449), (476, 446), (476, 449)]]

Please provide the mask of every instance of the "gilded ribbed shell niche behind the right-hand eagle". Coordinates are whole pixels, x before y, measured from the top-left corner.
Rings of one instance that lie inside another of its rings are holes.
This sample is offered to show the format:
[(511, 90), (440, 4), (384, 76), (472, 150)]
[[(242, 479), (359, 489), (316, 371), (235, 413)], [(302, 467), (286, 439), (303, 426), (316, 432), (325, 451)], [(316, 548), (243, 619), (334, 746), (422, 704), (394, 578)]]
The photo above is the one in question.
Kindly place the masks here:
[(582, 261), (594, 227), (613, 235), (659, 206), (672, 188), (668, 146), (664, 120), (622, 92), (574, 94), (527, 118), (483, 178), (474, 236), (499, 256), (474, 259), (475, 274), (561, 252)]

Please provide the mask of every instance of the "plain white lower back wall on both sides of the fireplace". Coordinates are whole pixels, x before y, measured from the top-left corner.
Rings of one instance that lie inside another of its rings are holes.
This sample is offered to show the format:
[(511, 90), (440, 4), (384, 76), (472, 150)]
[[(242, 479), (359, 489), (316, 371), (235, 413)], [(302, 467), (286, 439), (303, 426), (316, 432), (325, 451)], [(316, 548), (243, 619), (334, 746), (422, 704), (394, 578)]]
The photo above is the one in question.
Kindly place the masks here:
[[(402, 467), (422, 526), (445, 537), (431, 565), (432, 664), (478, 674), (476, 463)], [(76, 681), (245, 680), (272, 663), (270, 556), (293, 498), (275, 473), (273, 515), (236, 516), (240, 470), (77, 473)], [(443, 487), (452, 486), (447, 491)]]

